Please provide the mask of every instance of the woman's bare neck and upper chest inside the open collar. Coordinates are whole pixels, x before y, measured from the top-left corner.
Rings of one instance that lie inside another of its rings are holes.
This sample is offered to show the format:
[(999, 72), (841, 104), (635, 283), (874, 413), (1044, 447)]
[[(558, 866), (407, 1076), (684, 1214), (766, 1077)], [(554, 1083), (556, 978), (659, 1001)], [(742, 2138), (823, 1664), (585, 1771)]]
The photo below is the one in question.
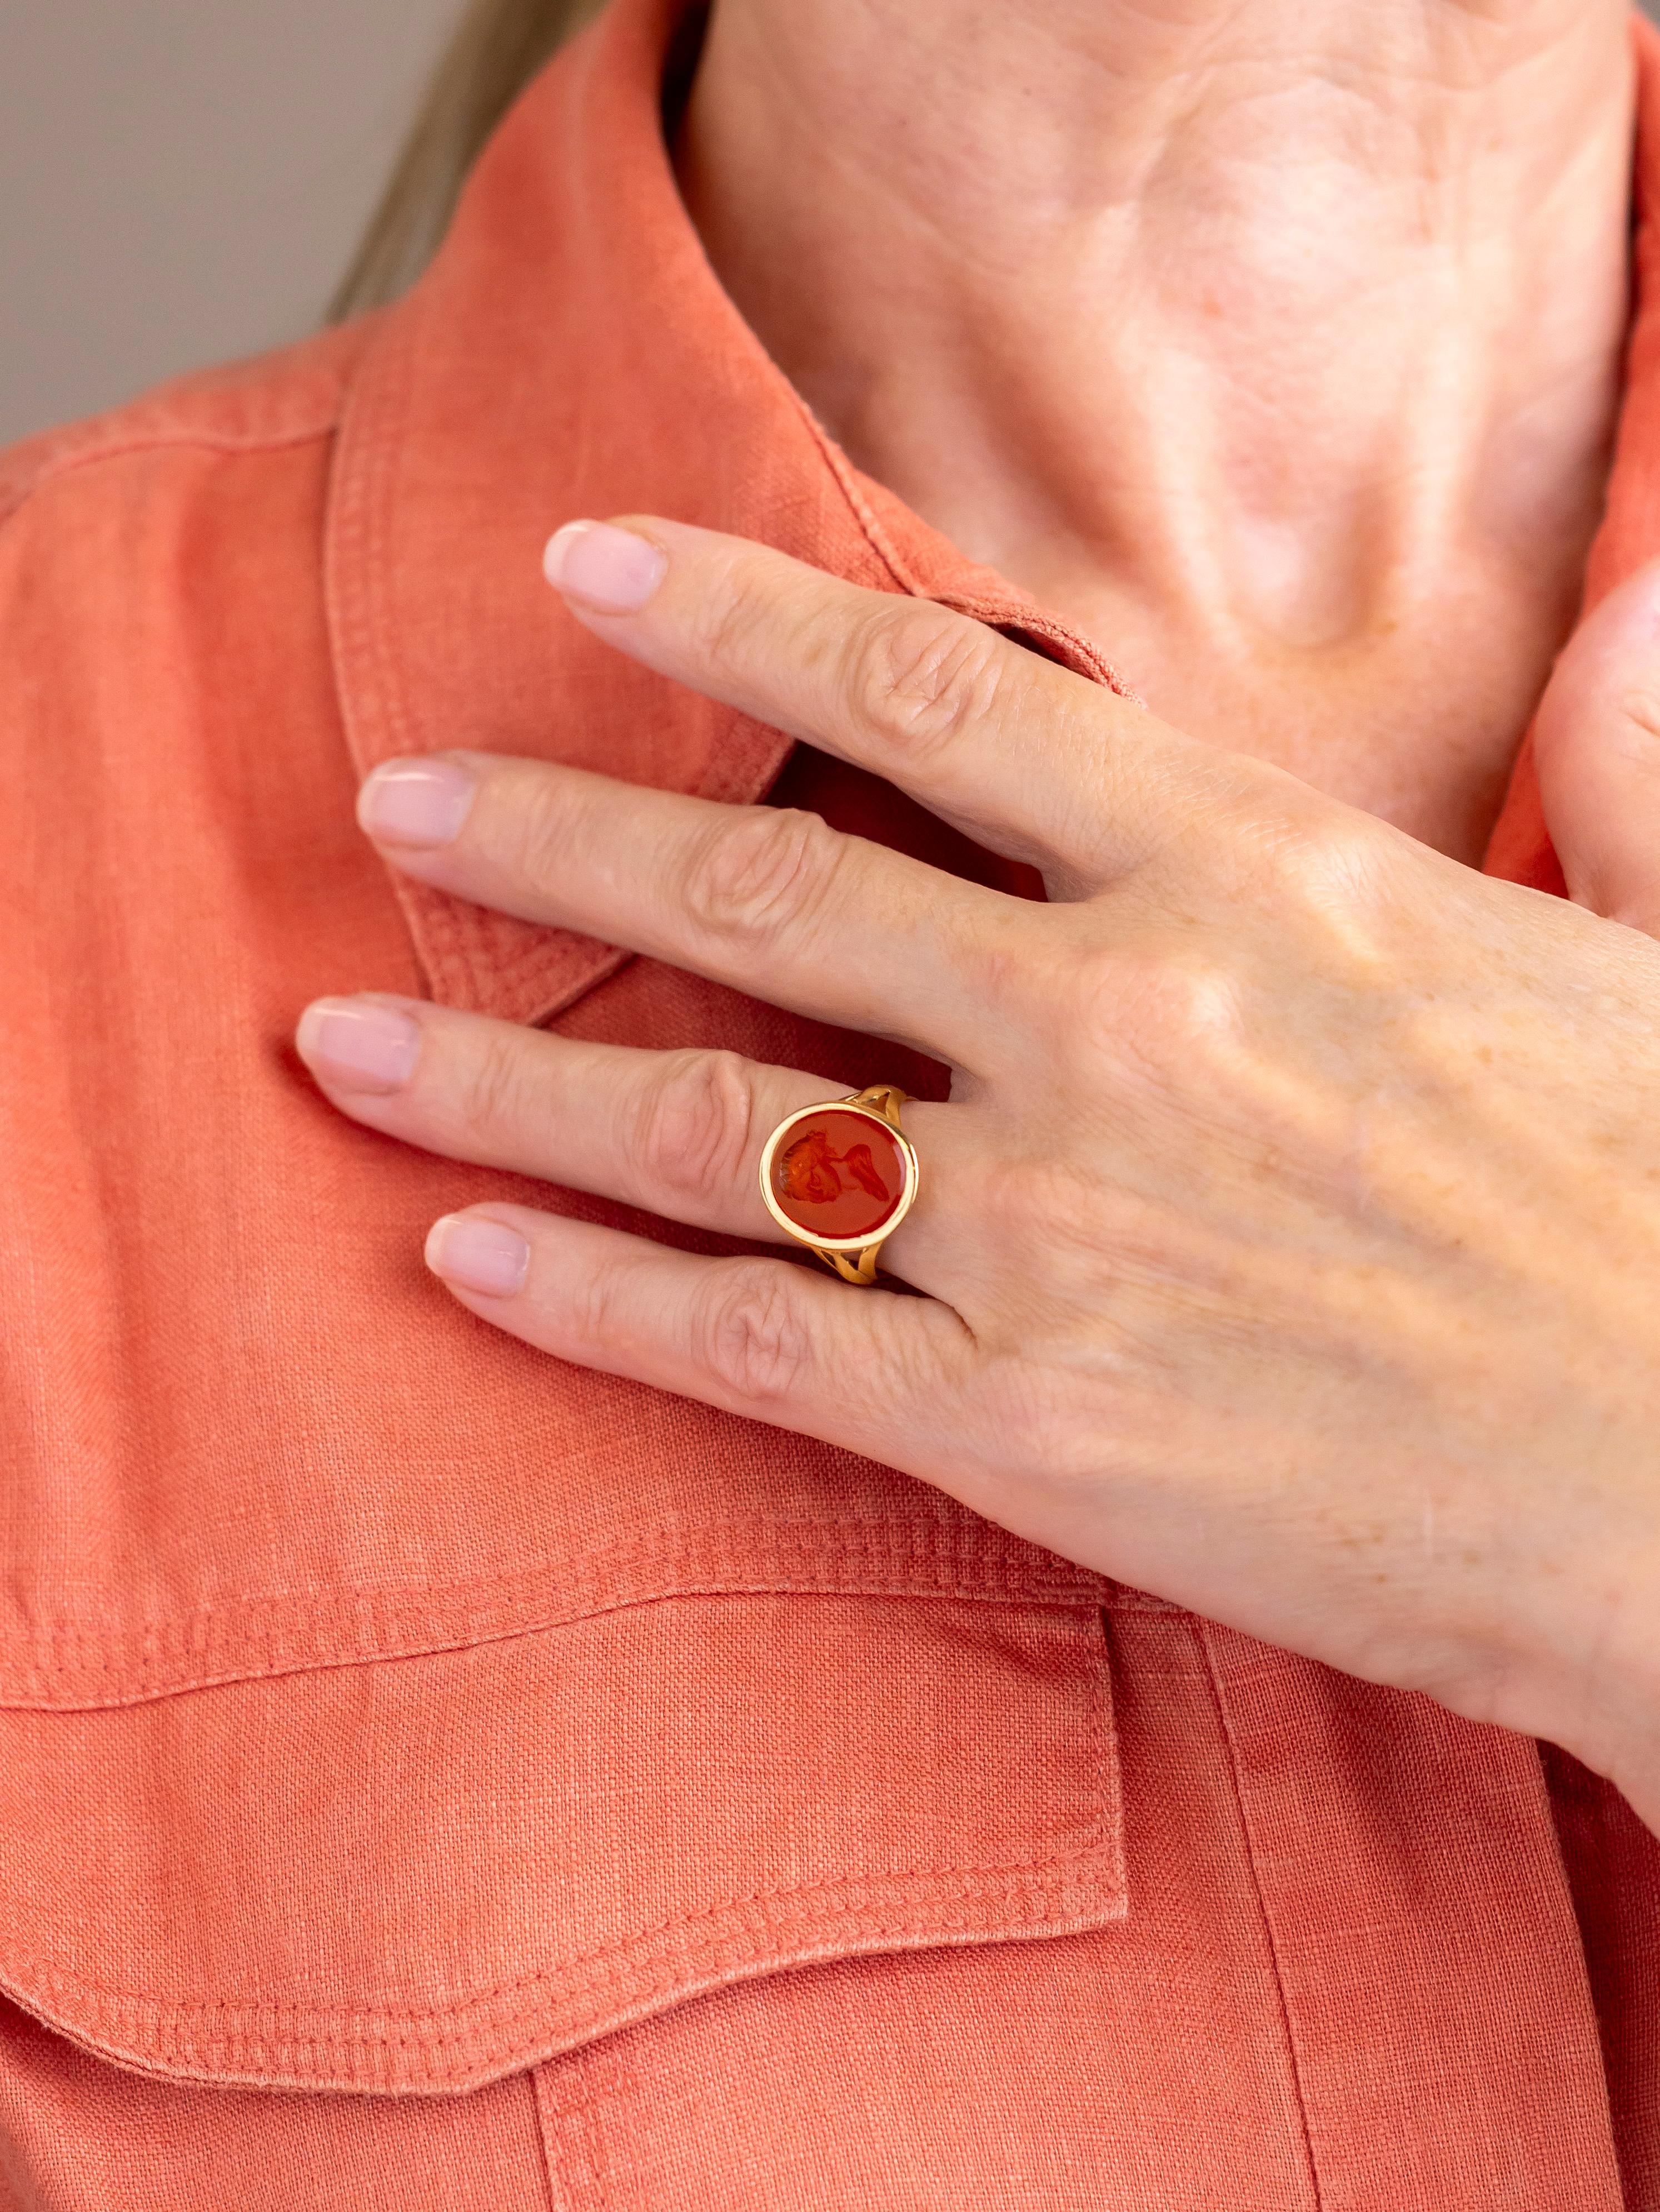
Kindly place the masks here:
[[(863, 469), (1173, 719), (1461, 849), (1598, 513), (1631, 77), (1618, 0), (717, 0), (682, 184)], [(1377, 717), (1352, 772), (1282, 730), (1408, 650), (1434, 821)]]

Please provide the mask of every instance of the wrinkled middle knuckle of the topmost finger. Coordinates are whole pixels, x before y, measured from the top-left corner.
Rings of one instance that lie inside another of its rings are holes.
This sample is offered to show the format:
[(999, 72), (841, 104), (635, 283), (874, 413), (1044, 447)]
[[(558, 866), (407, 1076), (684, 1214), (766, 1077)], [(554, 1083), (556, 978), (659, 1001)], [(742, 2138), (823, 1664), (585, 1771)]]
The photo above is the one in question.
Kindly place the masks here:
[(925, 599), (872, 615), (850, 641), (845, 690), (881, 739), (905, 752), (945, 752), (996, 712), (1009, 646), (985, 624)]

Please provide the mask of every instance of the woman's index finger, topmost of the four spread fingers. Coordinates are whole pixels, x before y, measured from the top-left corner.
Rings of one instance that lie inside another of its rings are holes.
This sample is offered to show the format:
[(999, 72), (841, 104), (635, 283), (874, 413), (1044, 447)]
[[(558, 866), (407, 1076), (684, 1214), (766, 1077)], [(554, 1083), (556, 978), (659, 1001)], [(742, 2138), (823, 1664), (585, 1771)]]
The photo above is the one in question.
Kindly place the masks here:
[(1228, 761), (969, 615), (746, 538), (655, 515), (569, 522), (547, 575), (644, 666), (1085, 885), (1144, 858)]

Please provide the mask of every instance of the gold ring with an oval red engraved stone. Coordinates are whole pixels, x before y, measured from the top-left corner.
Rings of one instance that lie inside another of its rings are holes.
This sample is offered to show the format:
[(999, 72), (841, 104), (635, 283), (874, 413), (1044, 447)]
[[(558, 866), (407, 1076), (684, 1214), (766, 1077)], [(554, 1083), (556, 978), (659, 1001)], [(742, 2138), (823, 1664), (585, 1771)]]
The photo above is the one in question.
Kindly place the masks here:
[(845, 1283), (876, 1281), (876, 1254), (916, 1201), (905, 1093), (872, 1084), (788, 1115), (761, 1150), (761, 1199), (786, 1237)]

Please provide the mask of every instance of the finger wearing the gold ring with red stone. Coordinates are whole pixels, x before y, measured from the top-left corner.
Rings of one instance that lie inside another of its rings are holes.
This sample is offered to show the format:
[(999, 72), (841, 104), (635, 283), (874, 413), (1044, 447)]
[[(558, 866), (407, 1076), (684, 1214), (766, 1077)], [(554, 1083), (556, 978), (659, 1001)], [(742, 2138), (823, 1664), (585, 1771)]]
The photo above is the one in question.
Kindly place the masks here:
[[(837, 1095), (821, 1075), (737, 1053), (587, 1044), (378, 993), (317, 1000), (297, 1046), (334, 1106), (405, 1144), (757, 1243), (784, 1243), (761, 1203), (766, 1139)], [(930, 1172), (885, 1259), (932, 1290), (930, 1192), (950, 1172), (961, 1108), (912, 1104), (905, 1128)]]

